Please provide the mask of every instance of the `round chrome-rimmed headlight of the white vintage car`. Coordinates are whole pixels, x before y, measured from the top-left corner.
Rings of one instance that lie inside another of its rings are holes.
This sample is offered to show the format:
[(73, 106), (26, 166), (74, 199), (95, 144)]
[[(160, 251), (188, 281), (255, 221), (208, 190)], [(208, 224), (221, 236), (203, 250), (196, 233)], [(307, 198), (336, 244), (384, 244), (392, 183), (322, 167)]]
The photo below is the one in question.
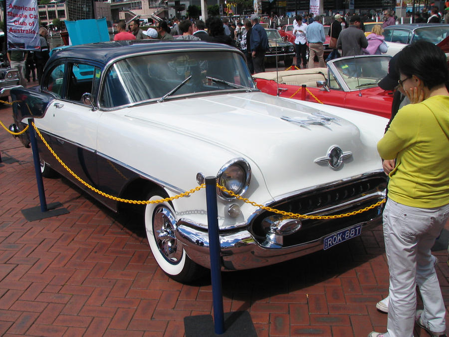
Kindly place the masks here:
[[(228, 161), (217, 174), (217, 183), (227, 190), (242, 195), (249, 185), (251, 178), (251, 169), (249, 164), (243, 158), (236, 158)], [(235, 199), (234, 196), (225, 193), (217, 188), (220, 197), (226, 200)]]

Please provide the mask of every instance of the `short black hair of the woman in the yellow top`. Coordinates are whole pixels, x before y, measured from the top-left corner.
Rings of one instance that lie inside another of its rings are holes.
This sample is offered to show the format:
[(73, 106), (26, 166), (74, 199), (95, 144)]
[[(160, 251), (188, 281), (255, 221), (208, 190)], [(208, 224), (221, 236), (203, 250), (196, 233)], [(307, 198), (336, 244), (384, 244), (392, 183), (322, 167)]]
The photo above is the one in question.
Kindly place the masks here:
[(396, 61), (398, 72), (412, 77), (415, 75), (424, 86), (432, 89), (449, 80), (446, 55), (434, 43), (420, 40), (405, 46)]

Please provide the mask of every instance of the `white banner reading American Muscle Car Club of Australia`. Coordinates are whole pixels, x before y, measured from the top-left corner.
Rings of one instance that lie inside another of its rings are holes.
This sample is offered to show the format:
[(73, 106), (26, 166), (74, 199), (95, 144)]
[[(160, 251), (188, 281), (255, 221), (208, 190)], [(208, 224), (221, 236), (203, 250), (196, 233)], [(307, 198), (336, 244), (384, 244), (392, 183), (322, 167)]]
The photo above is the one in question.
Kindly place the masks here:
[(8, 49), (39, 48), (37, 0), (6, 0)]

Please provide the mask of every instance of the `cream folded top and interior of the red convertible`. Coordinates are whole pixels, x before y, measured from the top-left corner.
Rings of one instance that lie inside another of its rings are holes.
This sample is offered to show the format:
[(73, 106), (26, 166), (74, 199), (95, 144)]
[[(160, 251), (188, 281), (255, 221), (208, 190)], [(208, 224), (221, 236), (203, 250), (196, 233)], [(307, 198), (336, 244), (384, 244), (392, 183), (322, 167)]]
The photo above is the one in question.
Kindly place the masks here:
[(327, 68), (311, 68), (311, 69), (298, 69), (298, 70), (283, 70), (270, 72), (260, 72), (252, 75), (254, 78), (261, 78), (271, 81), (276, 81), (279, 84), (288, 85), (302, 85), (305, 84), (309, 87), (316, 87), (316, 81), (325, 81), (327, 74)]

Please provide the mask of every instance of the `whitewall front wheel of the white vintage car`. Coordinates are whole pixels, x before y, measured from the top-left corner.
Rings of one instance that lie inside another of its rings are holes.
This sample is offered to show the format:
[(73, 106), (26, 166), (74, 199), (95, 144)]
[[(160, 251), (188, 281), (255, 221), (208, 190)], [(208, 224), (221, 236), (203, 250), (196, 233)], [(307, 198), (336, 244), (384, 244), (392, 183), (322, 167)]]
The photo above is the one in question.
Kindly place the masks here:
[[(150, 200), (163, 199), (154, 195)], [(202, 276), (204, 268), (193, 262), (176, 239), (175, 211), (168, 203), (145, 207), (145, 229), (148, 243), (159, 267), (173, 280), (188, 283)]]

